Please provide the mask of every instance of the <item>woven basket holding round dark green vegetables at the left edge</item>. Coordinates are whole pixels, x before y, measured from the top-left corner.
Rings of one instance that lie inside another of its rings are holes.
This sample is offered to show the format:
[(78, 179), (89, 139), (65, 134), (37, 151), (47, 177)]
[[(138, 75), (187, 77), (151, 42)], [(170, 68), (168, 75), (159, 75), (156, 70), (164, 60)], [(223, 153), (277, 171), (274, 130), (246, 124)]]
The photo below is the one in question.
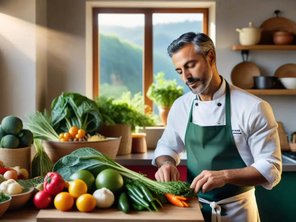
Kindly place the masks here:
[(24, 147), (18, 149), (3, 149), (0, 148), (0, 160), (4, 166), (15, 167), (28, 170), (31, 172), (31, 147)]

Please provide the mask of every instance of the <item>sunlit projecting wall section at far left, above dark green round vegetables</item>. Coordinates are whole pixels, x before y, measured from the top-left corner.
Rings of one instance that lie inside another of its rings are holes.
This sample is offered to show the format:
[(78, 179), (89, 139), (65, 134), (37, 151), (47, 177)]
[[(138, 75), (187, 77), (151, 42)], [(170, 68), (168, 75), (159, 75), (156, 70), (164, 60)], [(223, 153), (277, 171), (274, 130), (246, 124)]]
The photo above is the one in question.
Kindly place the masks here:
[(46, 19), (46, 0), (0, 1), (0, 120), (45, 107)]

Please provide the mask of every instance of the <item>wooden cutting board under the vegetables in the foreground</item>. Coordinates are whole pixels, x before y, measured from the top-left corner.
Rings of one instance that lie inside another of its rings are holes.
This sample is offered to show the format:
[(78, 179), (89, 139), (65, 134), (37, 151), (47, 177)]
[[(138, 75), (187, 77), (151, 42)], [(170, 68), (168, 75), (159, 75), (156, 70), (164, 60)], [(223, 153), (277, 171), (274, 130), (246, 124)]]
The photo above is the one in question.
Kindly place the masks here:
[(88, 221), (106, 221), (106, 222), (202, 222), (204, 218), (202, 216), (198, 199), (186, 201), (189, 207), (177, 207), (171, 204), (165, 204), (163, 209), (159, 209), (159, 212), (130, 212), (125, 214), (118, 209), (95, 209), (89, 213), (82, 213), (78, 210), (71, 210), (68, 212), (62, 212), (56, 209), (40, 210), (37, 215), (37, 222), (88, 222)]

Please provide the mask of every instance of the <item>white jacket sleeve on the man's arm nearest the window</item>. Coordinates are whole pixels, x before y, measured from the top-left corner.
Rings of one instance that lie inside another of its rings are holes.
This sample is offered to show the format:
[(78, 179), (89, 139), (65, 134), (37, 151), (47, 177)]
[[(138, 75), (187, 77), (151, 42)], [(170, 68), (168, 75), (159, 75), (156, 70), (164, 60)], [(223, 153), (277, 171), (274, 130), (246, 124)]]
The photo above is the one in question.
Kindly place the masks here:
[(181, 153), (184, 151), (185, 146), (182, 139), (179, 136), (176, 126), (176, 109), (178, 109), (178, 105), (176, 105), (176, 101), (170, 108), (167, 125), (163, 132), (163, 135), (157, 142), (156, 149), (154, 151), (154, 158), (152, 160), (152, 165), (156, 166), (155, 159), (159, 156), (170, 156), (176, 161), (176, 165), (180, 163)]

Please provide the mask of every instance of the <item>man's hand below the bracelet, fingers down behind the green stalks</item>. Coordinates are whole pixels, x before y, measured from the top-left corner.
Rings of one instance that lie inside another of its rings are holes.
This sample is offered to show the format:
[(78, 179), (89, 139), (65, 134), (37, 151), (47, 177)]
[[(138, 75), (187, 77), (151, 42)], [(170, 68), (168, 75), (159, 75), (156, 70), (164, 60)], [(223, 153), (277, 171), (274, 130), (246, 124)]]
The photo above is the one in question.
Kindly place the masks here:
[(169, 182), (179, 180), (179, 171), (172, 163), (165, 163), (155, 173), (157, 181)]

